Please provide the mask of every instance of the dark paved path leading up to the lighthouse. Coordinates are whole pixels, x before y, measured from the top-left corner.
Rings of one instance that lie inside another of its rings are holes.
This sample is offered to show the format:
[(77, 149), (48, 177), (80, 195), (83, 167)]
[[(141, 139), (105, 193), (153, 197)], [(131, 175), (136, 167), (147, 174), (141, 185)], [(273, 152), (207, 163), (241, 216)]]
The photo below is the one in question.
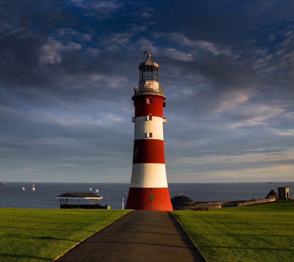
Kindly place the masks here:
[(60, 257), (61, 261), (203, 261), (169, 212), (131, 211)]

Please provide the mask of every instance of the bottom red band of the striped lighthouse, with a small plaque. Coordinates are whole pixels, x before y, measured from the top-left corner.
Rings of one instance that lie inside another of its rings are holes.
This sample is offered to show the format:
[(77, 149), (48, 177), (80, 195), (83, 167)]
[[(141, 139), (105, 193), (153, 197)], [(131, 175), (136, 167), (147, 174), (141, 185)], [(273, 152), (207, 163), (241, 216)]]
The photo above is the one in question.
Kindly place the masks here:
[(126, 209), (173, 210), (167, 187), (130, 187)]

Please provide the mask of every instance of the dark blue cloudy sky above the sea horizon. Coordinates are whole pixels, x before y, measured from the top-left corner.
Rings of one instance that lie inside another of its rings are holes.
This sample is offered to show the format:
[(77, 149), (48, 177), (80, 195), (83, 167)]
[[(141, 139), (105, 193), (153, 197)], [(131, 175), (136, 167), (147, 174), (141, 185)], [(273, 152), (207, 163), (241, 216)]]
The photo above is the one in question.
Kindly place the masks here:
[(168, 183), (294, 181), (294, 2), (0, 0), (0, 181), (129, 183), (151, 50)]

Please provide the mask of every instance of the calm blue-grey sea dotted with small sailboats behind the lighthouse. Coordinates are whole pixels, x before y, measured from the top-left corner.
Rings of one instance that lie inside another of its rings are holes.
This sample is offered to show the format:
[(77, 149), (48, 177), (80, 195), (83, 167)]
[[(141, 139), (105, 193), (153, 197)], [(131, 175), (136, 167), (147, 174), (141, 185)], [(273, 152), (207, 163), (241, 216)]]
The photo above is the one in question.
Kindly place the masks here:
[[(33, 187), (35, 191), (32, 190)], [(103, 196), (99, 200), (101, 206), (110, 205), (111, 209), (122, 209), (126, 205), (129, 187), (129, 183), (6, 182), (5, 185), (0, 185), (0, 207), (59, 208), (60, 199), (56, 197), (63, 193), (94, 192)], [(278, 187), (289, 187), (289, 195), (294, 197), (294, 182), (168, 184), (171, 198), (182, 193), (194, 201), (260, 199), (265, 198), (272, 188), (278, 193)], [(78, 200), (69, 199), (68, 203), (78, 204)], [(81, 199), (80, 203), (89, 204), (90, 200)]]

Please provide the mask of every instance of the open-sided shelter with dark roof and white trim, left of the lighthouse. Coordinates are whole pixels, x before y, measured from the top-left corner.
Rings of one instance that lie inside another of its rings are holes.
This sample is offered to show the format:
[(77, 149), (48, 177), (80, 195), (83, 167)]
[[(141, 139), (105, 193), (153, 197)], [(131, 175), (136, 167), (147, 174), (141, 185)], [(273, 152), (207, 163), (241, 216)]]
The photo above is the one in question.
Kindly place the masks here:
[[(62, 195), (59, 195), (55, 198), (60, 199), (60, 208), (84, 208), (84, 209), (100, 209), (101, 205), (99, 205), (99, 199), (103, 198), (103, 196), (97, 195), (95, 193), (86, 193), (86, 192), (66, 192)], [(62, 199), (62, 202), (61, 202)], [(69, 204), (69, 199), (78, 199), (78, 204)], [(81, 199), (89, 199), (89, 204), (81, 204)], [(94, 204), (94, 199), (96, 199), (96, 204)]]

